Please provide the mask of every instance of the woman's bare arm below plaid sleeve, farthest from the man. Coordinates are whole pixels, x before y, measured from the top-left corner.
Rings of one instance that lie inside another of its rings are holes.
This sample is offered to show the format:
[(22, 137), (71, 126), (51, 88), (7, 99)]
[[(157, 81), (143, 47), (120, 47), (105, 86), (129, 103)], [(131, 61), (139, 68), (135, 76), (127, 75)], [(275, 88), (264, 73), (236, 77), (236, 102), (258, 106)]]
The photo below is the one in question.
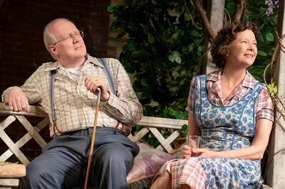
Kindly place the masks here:
[(269, 141), (273, 122), (269, 119), (257, 119), (255, 127), (255, 136), (252, 145), (247, 148), (239, 148), (227, 151), (209, 151), (204, 148), (193, 149), (193, 152), (199, 153), (199, 157), (223, 157), (223, 158), (244, 158), (261, 159)]

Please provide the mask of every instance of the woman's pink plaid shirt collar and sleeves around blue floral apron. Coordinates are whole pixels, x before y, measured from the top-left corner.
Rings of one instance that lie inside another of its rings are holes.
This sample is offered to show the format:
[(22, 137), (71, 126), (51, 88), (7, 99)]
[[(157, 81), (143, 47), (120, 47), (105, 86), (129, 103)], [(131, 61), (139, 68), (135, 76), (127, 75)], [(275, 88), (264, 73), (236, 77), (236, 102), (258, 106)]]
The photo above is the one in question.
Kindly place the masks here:
[[(221, 73), (222, 70), (217, 72), (212, 72), (207, 75), (207, 92), (209, 101), (220, 107), (229, 106), (238, 102), (244, 95), (254, 88), (257, 80), (247, 71), (246, 76), (242, 83), (232, 91), (232, 93), (227, 97), (227, 99), (222, 100), (222, 84), (221, 84)], [(194, 91), (195, 91), (195, 80), (193, 77), (190, 85), (190, 92), (188, 96), (187, 111), (193, 114), (194, 107)], [(274, 121), (274, 102), (270, 97), (269, 90), (264, 87), (263, 90), (257, 96), (255, 101), (255, 113), (257, 114), (257, 119), (269, 119)]]

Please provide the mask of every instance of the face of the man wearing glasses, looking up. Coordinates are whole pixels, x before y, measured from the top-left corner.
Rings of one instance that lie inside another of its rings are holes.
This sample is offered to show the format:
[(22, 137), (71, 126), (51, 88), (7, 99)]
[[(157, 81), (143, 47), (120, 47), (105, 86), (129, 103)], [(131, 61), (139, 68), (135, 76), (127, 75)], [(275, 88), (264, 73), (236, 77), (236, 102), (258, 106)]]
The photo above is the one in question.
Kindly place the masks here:
[(58, 61), (63, 64), (63, 67), (70, 68), (69, 63), (72, 64), (85, 59), (86, 46), (83, 38), (76, 35), (79, 31), (73, 23), (60, 20), (53, 23), (49, 31), (57, 41), (55, 45), (50, 46), (51, 51), (56, 55)]

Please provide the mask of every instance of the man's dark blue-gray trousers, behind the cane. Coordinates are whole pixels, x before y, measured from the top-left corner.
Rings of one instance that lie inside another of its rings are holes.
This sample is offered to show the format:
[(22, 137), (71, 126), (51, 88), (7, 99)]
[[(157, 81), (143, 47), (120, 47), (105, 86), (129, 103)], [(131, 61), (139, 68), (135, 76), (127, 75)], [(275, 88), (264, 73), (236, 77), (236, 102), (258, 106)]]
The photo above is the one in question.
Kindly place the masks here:
[[(26, 188), (73, 188), (84, 185), (93, 128), (56, 136), (26, 169)], [(139, 147), (122, 131), (97, 127), (89, 185), (128, 188), (126, 175)]]

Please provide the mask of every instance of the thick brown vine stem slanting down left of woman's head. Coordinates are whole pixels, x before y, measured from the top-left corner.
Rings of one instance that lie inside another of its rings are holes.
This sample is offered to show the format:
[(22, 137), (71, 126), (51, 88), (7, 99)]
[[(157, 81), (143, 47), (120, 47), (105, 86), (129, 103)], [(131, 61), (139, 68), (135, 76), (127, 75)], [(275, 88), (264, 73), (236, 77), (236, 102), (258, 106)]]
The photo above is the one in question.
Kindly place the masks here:
[(217, 33), (215, 33), (213, 31), (212, 27), (210, 26), (209, 19), (207, 18), (207, 15), (204, 11), (204, 8), (203, 8), (201, 2), (199, 0), (194, 0), (193, 2), (194, 2), (195, 8), (197, 9), (197, 11), (199, 13), (201, 20), (202, 20), (208, 41), (209, 41), (209, 43), (212, 44), (214, 41), (214, 38), (217, 36)]

